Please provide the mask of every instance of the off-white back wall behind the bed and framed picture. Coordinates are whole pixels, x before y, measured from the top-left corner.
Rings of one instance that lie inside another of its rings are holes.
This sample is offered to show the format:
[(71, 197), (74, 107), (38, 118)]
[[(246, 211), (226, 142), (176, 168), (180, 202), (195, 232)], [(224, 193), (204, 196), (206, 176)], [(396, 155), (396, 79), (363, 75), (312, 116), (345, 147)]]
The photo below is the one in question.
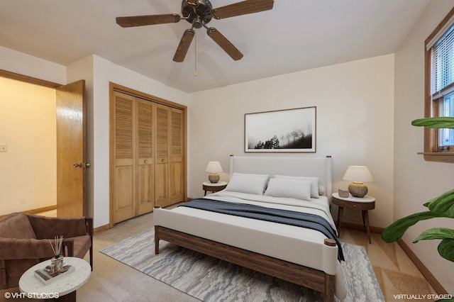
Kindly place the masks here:
[[(383, 228), (392, 223), (394, 55), (201, 91), (190, 95), (189, 104), (189, 197), (203, 196), (211, 160), (221, 162), (221, 180), (228, 180), (229, 155), (245, 154), (245, 113), (316, 106), (315, 154), (259, 155), (332, 155), (333, 191), (347, 188), (342, 177), (349, 165), (367, 165), (375, 179), (367, 184), (369, 194), (377, 199), (370, 223)], [(344, 213), (362, 223), (357, 211)]]

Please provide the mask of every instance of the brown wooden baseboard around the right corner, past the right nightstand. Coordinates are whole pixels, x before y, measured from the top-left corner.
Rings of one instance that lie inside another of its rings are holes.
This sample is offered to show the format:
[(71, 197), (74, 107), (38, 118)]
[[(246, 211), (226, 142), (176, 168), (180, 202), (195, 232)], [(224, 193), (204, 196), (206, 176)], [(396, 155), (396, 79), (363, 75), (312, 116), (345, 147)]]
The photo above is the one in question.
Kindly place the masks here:
[[(342, 228), (349, 228), (352, 230), (364, 230), (362, 225), (359, 225), (358, 223), (342, 223)], [(381, 234), (383, 232), (384, 228), (378, 228), (378, 227), (373, 227), (370, 226), (370, 233), (377, 233)], [(406, 245), (404, 240), (397, 240), (397, 244), (402, 247), (402, 250), (404, 250), (405, 254), (410, 258), (411, 262), (414, 263), (417, 269), (419, 269), (419, 272), (423, 274), (424, 278), (428, 281), (428, 284), (431, 284), (433, 289), (436, 291), (437, 294), (448, 294), (448, 291), (446, 291), (443, 286), (438, 282), (438, 280), (433, 276), (433, 274), (428, 270), (428, 268), (421, 262), (421, 260), (416, 256), (416, 254), (411, 250), (411, 248)]]

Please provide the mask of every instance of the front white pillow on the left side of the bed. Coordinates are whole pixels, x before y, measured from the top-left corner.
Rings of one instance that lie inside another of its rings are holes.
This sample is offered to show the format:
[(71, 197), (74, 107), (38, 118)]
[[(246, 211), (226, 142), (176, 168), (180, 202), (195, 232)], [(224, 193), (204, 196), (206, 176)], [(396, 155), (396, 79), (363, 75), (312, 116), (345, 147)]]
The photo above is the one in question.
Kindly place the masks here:
[(228, 181), (226, 191), (263, 195), (268, 181), (265, 174), (233, 173)]

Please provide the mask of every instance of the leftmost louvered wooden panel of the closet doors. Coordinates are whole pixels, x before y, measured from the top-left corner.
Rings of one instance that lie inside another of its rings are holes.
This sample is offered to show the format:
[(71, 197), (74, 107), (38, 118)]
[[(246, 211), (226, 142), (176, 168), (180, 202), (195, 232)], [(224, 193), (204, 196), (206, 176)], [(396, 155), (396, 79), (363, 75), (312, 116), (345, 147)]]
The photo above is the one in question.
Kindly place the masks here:
[(115, 92), (114, 223), (135, 217), (135, 98)]

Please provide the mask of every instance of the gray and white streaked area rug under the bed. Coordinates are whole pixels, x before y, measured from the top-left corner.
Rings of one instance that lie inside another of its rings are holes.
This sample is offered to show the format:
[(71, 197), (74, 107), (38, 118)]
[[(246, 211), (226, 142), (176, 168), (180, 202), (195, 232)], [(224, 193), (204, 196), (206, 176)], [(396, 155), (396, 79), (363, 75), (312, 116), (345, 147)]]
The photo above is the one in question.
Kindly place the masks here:
[[(323, 301), (322, 293), (162, 240), (155, 255), (154, 234), (151, 228), (100, 252), (201, 301)], [(365, 248), (342, 247), (348, 288), (343, 301), (384, 301)]]

